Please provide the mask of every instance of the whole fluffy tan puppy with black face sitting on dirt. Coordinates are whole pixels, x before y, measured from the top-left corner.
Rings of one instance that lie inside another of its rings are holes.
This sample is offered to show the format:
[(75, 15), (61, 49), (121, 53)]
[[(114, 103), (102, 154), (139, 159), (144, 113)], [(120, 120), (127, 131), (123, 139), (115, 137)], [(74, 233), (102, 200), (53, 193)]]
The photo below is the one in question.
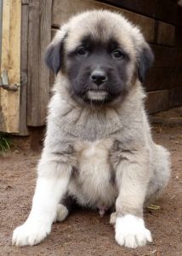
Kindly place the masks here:
[(169, 153), (153, 142), (144, 107), (152, 61), (139, 28), (117, 13), (88, 11), (60, 28), (46, 52), (57, 78), (37, 187), (14, 245), (42, 241), (67, 217), (71, 198), (100, 215), (113, 207), (119, 245), (152, 241), (143, 206), (170, 176)]

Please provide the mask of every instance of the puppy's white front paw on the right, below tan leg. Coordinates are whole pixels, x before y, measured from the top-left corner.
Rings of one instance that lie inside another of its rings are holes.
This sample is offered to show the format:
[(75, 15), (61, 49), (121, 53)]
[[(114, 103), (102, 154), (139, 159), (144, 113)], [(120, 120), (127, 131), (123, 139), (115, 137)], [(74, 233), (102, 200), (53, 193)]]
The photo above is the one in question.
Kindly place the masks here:
[(115, 231), (115, 239), (121, 246), (135, 248), (152, 241), (151, 232), (145, 228), (143, 218), (132, 214), (117, 217)]

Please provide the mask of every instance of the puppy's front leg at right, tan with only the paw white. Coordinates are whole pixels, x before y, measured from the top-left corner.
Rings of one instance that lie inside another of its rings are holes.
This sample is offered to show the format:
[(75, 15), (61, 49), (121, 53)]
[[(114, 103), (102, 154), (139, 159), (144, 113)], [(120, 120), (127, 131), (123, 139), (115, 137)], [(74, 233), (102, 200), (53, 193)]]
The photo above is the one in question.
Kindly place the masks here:
[(145, 228), (143, 203), (149, 181), (146, 152), (128, 152), (117, 169), (119, 195), (116, 202), (116, 241), (121, 246), (139, 247), (152, 241)]

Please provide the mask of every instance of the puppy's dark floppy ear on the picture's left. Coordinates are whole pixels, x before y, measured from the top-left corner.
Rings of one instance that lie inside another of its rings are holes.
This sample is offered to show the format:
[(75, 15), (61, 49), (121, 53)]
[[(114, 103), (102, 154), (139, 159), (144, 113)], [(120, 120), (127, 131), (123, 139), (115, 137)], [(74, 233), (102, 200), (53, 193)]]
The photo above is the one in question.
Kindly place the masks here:
[(45, 51), (45, 62), (56, 74), (60, 71), (63, 64), (66, 35), (67, 31), (62, 29), (58, 31)]

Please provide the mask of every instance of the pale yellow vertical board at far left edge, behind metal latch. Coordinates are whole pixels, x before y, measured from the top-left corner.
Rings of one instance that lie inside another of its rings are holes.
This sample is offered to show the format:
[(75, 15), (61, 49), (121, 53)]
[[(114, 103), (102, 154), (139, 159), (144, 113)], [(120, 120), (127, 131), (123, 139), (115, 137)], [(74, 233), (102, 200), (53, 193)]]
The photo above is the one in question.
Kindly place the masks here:
[[(20, 84), (20, 27), (21, 1), (3, 1), (1, 74), (8, 72), (9, 84)], [(16, 91), (0, 87), (1, 121), (0, 131), (19, 132), (20, 87)]]

